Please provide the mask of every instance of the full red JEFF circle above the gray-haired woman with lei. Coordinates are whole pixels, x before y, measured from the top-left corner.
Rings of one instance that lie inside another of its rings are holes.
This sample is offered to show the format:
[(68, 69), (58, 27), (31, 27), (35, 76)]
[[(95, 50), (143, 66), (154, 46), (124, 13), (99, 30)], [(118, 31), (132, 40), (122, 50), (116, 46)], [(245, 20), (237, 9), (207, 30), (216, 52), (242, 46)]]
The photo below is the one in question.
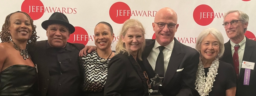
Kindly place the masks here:
[(202, 4), (195, 8), (193, 18), (198, 25), (206, 26), (212, 23), (214, 12), (210, 6)]

